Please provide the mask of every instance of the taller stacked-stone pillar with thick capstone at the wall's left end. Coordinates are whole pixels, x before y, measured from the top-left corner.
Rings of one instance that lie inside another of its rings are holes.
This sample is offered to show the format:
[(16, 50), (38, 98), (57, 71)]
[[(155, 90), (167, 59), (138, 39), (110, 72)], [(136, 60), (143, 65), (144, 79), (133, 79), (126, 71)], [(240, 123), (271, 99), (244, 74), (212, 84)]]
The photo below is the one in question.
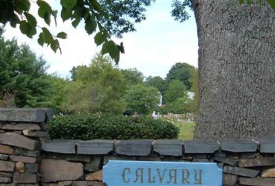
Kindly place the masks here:
[(0, 108), (0, 185), (39, 185), (48, 108)]

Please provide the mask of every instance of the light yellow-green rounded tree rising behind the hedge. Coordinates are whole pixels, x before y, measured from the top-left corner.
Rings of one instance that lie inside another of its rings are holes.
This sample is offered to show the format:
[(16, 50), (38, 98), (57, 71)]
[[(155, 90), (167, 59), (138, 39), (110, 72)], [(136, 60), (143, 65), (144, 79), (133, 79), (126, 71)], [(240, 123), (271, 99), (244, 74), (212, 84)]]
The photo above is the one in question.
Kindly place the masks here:
[(97, 55), (89, 67), (74, 67), (72, 78), (65, 90), (67, 104), (63, 108), (67, 108), (66, 112), (123, 113), (122, 94), (126, 84), (110, 58)]

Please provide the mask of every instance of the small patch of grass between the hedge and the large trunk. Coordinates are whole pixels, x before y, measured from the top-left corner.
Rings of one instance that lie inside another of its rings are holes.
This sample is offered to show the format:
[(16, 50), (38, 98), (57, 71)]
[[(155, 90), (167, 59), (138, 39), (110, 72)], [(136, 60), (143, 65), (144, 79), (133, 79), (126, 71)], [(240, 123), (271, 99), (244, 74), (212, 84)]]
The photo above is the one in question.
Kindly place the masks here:
[(179, 128), (179, 139), (192, 140), (194, 137), (195, 123), (180, 124), (175, 122), (175, 126)]

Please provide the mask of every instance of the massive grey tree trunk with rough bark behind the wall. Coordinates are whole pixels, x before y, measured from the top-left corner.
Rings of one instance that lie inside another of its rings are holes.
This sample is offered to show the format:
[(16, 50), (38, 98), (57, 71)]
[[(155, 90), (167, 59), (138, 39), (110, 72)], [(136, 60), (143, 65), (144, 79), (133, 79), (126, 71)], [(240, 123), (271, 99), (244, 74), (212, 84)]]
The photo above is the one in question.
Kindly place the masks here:
[(193, 0), (199, 37), (195, 139), (275, 136), (275, 12)]

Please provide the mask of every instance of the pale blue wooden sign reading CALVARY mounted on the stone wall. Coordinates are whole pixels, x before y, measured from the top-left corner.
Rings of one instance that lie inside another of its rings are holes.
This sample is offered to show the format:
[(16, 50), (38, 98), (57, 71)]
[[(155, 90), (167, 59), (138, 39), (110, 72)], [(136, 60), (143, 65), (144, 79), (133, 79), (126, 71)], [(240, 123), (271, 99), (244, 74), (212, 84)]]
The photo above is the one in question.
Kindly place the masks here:
[(108, 186), (221, 186), (222, 175), (217, 163), (110, 160), (103, 167)]

